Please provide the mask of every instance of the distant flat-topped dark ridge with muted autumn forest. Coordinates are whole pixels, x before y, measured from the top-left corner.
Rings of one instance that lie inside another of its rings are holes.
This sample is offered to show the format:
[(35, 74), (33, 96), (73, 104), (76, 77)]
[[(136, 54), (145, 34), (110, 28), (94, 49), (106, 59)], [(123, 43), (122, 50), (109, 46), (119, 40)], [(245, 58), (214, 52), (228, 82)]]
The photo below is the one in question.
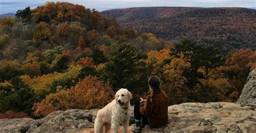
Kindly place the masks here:
[(216, 46), (222, 52), (256, 48), (256, 10), (247, 8), (149, 7), (113, 9), (102, 12), (120, 25), (158, 38), (177, 41), (182, 37)]

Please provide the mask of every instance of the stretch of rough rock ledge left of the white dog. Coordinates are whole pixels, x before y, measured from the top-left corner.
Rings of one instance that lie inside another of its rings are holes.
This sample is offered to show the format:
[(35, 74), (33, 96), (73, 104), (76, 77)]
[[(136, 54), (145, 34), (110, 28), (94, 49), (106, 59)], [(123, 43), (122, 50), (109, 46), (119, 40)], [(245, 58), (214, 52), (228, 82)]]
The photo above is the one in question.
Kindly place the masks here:
[(0, 132), (74, 132), (93, 128), (98, 109), (57, 111), (43, 119), (2, 119)]

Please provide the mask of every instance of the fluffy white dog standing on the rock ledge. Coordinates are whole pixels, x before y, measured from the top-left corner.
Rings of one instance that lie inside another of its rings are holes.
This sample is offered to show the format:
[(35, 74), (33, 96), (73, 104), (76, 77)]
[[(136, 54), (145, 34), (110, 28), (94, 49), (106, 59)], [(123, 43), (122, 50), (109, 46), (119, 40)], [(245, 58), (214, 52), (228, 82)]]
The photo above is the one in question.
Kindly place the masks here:
[(95, 133), (107, 132), (110, 128), (113, 133), (117, 133), (121, 123), (123, 131), (127, 132), (131, 115), (131, 98), (132, 94), (126, 88), (118, 90), (114, 100), (98, 111), (94, 125)]

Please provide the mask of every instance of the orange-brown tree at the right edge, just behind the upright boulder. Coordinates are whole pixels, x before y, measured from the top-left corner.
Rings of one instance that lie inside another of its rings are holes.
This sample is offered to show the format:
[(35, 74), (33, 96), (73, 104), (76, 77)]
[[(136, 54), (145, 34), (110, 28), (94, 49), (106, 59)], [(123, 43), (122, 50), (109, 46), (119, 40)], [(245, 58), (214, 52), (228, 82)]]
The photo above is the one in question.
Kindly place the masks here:
[(227, 101), (236, 101), (239, 98), (250, 70), (255, 68), (256, 51), (251, 49), (239, 49), (227, 57), (225, 64), (219, 68), (219, 71), (223, 72), (225, 78), (234, 86)]

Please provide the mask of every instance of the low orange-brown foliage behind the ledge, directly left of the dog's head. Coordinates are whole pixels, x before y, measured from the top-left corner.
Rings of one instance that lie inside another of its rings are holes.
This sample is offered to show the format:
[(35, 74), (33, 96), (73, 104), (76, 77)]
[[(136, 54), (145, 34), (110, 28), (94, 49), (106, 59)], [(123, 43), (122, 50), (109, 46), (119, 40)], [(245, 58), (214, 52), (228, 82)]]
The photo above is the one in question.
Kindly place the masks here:
[(112, 100), (113, 95), (108, 83), (99, 81), (97, 77), (86, 77), (70, 90), (49, 94), (33, 106), (34, 114), (46, 116), (56, 110), (102, 108)]

